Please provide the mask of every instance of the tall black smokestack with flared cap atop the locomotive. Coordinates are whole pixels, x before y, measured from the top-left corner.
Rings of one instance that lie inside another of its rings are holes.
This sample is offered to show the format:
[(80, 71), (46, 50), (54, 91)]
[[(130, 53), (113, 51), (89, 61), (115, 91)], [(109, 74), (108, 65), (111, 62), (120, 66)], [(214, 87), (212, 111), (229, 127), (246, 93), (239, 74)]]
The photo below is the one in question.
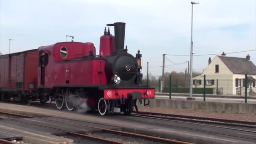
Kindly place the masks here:
[(107, 26), (114, 26), (115, 28), (115, 55), (124, 53), (125, 23), (116, 22), (114, 24), (107, 24)]

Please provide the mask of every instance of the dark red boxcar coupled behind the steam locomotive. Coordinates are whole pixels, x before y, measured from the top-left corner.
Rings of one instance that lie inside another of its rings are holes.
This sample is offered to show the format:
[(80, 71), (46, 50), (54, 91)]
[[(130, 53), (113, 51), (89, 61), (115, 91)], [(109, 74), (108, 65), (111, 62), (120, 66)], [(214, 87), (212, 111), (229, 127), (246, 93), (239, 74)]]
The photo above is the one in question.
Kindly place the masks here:
[(37, 87), (38, 51), (29, 50), (0, 56), (1, 99), (32, 96)]

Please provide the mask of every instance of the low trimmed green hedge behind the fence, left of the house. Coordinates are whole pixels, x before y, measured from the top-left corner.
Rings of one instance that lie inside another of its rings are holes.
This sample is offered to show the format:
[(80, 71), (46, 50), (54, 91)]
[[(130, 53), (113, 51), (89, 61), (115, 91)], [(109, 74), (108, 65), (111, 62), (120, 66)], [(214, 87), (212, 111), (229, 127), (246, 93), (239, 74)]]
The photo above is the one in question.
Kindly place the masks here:
[[(169, 88), (163, 89), (164, 93), (169, 93)], [(189, 88), (171, 88), (171, 93), (189, 93)], [(203, 94), (203, 88), (193, 88), (193, 93)], [(205, 94), (213, 94), (213, 88), (205, 88)]]

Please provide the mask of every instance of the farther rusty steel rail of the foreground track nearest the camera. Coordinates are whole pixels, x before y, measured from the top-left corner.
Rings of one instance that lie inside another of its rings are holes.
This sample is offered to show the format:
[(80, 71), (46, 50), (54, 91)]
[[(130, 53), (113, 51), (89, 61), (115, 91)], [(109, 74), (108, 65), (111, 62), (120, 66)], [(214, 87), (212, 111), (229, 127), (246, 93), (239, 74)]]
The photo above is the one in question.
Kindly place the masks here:
[[(61, 121), (61, 120), (51, 120), (51, 119), (42, 118), (42, 117), (33, 117), (33, 116), (28, 116), (28, 115), (20, 115), (20, 114), (14, 114), (14, 113), (9, 113), (9, 112), (1, 112), (1, 111), (0, 111), (0, 113), (5, 113), (5, 114), (9, 114), (9, 115), (16, 115), (16, 116), (21, 116), (21, 117), (37, 118), (37, 119), (41, 119), (41, 120), (49, 120), (49, 121), (66, 123), (66, 124), (71, 124), (71, 125), (84, 126), (84, 127), (88, 127), (88, 128), (96, 128), (96, 129), (101, 129), (103, 131), (108, 131), (108, 132), (113, 132), (113, 133), (121, 133), (121, 134), (126, 134), (126, 135), (130, 135), (130, 136), (137, 136), (137, 137), (146, 138), (146, 139), (153, 139), (153, 140), (157, 140), (157, 141), (168, 142), (168, 143), (171, 143), (171, 144), (192, 144), (192, 143), (183, 142), (183, 141), (176, 141), (176, 140), (171, 140), (171, 139), (159, 138), (159, 137), (155, 137), (155, 136), (142, 135), (142, 134), (138, 134), (138, 133), (130, 133), (130, 132), (117, 131), (117, 130), (112, 130), (112, 129), (107, 129), (107, 128), (99, 128), (99, 127), (89, 126), (89, 125), (68, 123), (68, 122), (64, 122), (64, 121)], [(59, 118), (59, 117), (57, 117), (57, 118)]]

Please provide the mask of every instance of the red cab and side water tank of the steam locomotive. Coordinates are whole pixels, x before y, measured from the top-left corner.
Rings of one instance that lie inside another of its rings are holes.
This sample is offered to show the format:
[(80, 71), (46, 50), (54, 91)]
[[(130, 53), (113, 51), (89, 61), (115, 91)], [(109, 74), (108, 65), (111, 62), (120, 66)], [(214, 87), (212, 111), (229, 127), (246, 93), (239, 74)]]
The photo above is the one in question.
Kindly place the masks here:
[[(62, 49), (61, 49), (62, 48)], [(67, 56), (61, 57), (64, 49)], [(45, 85), (44, 88), (56, 86), (86, 86), (106, 84), (104, 76), (99, 79), (99, 71), (104, 70), (104, 59), (92, 59), (95, 56), (93, 43), (64, 42), (55, 45), (42, 46), (48, 54), (48, 64), (45, 66)], [(90, 54), (91, 53), (91, 54)], [(40, 66), (37, 69), (40, 76)], [(37, 79), (40, 85), (40, 77)]]

